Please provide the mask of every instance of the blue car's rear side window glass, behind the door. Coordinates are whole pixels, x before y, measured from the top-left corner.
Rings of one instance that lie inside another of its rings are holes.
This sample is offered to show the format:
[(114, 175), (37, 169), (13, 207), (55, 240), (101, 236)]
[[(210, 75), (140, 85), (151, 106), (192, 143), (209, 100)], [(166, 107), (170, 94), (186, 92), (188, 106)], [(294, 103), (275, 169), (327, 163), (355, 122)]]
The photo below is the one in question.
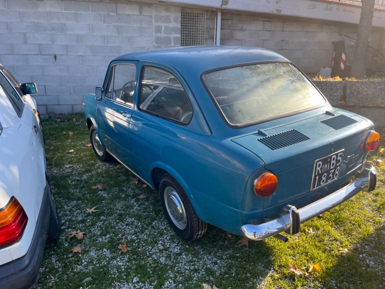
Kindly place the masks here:
[(170, 72), (145, 67), (142, 72), (139, 109), (187, 124), (192, 106), (181, 82)]

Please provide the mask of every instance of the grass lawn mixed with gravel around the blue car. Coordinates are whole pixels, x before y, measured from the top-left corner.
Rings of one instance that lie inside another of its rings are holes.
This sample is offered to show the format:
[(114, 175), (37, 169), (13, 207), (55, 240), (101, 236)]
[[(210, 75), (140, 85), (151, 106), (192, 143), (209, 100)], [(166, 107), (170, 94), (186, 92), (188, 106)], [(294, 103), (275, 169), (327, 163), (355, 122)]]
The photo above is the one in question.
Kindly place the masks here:
[[(385, 288), (385, 166), (377, 165), (374, 192), (360, 192), (303, 223), (287, 243), (270, 238), (246, 247), (237, 244), (240, 237), (213, 226), (187, 243), (169, 227), (158, 192), (133, 183), (130, 171), (118, 162), (99, 161), (87, 147), (84, 115), (43, 124), (62, 235), (45, 248), (37, 288), (202, 288), (202, 283), (219, 289)], [(381, 141), (385, 144), (384, 135)], [(385, 153), (370, 158), (384, 159)], [(91, 188), (99, 183), (102, 190)], [(138, 199), (141, 194), (147, 197)], [(99, 211), (86, 213), (95, 206)], [(311, 236), (305, 231), (310, 228)], [(77, 229), (87, 233), (84, 239), (69, 240)], [(118, 254), (124, 242), (129, 250)], [(81, 253), (72, 253), (79, 245)], [(295, 276), (289, 263), (303, 274)], [(317, 263), (319, 274), (305, 277)]]

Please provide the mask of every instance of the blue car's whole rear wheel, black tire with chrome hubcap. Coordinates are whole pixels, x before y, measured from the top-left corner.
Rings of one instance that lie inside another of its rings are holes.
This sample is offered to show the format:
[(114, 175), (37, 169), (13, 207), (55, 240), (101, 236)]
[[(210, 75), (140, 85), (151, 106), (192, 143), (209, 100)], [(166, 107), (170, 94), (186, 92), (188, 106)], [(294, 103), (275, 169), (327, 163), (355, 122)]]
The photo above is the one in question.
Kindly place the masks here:
[(206, 233), (207, 223), (198, 217), (186, 192), (171, 175), (162, 176), (159, 192), (167, 220), (179, 237), (194, 241)]

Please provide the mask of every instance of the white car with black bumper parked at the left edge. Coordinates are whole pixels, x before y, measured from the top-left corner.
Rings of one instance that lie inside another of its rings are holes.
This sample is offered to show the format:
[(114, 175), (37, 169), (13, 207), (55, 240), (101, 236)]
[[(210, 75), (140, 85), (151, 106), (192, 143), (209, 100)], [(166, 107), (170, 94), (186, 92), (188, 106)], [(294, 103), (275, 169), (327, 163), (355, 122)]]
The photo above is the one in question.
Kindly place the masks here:
[(0, 64), (0, 288), (32, 288), (60, 219), (46, 176), (34, 83)]

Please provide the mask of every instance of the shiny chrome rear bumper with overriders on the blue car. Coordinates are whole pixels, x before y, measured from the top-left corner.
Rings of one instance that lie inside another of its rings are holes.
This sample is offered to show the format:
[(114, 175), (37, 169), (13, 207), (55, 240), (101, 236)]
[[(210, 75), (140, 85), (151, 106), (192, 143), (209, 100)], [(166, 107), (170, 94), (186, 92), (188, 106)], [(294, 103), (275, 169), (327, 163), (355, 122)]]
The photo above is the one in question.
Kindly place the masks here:
[(241, 235), (250, 240), (263, 240), (283, 231), (291, 235), (296, 234), (300, 230), (301, 223), (330, 210), (362, 190), (373, 191), (376, 182), (377, 170), (374, 166), (366, 164), (357, 180), (345, 187), (299, 209), (286, 205), (281, 217), (259, 225), (243, 225)]

